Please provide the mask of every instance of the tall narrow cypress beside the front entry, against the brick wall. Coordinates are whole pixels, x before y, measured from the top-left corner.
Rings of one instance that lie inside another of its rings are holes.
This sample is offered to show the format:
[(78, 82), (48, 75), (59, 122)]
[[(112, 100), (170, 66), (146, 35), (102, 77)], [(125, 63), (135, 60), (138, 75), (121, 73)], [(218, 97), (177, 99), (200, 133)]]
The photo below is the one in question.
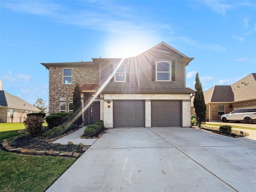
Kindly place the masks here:
[(81, 102), (81, 91), (79, 89), (78, 83), (76, 83), (76, 86), (74, 88), (74, 93), (73, 93), (73, 114), (72, 114), (72, 119), (74, 123), (79, 126), (83, 122), (82, 118), (82, 102)]

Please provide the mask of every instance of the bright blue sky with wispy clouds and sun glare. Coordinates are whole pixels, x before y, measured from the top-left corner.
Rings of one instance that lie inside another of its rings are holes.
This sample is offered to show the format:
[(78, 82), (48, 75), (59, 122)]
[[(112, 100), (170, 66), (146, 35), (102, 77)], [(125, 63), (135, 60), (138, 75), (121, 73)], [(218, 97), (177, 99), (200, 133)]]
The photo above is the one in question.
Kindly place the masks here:
[(256, 72), (256, 1), (0, 1), (4, 90), (48, 105), (40, 63), (132, 57), (166, 42), (194, 60), (203, 90)]

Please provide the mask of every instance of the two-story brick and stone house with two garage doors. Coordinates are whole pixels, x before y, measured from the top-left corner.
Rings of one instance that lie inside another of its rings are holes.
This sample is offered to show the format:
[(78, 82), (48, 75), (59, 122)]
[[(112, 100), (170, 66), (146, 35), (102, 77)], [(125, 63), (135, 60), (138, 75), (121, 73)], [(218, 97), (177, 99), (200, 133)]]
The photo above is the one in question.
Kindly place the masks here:
[(49, 70), (49, 114), (72, 112), (78, 83), (84, 125), (188, 127), (194, 90), (186, 88), (186, 66), (193, 59), (162, 42), (132, 58), (41, 63)]

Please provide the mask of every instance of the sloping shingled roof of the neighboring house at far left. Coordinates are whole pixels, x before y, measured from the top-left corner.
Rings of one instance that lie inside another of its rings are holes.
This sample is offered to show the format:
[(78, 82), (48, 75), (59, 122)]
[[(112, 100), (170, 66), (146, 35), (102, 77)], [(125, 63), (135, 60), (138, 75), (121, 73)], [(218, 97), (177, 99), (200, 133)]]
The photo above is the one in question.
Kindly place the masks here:
[(4, 90), (0, 90), (0, 107), (17, 108), (40, 112), (38, 108), (22, 100), (21, 98), (11, 95)]

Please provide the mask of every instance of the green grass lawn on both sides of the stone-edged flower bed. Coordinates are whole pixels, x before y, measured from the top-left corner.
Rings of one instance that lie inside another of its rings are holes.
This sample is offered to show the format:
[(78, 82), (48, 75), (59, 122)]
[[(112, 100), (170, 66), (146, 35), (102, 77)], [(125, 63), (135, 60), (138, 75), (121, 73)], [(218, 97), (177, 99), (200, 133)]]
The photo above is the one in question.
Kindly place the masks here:
[[(0, 138), (19, 135), (24, 124), (0, 124)], [(1, 192), (44, 192), (74, 162), (76, 158), (22, 155), (0, 150)]]

